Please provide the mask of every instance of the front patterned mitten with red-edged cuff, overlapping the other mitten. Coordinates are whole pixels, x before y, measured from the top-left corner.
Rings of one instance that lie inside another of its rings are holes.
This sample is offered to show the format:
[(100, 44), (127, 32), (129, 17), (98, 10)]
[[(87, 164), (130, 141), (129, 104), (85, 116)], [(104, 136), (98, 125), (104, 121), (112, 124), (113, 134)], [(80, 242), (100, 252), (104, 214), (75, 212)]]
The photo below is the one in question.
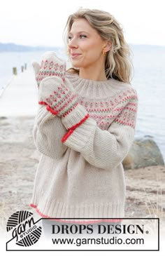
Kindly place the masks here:
[[(87, 111), (78, 103), (69, 79), (62, 81), (57, 76), (47, 77), (41, 81), (39, 93), (46, 103), (48, 111), (66, 121), (66, 129), (75, 129), (80, 126), (88, 117)], [(71, 118), (76, 112), (76, 118)]]

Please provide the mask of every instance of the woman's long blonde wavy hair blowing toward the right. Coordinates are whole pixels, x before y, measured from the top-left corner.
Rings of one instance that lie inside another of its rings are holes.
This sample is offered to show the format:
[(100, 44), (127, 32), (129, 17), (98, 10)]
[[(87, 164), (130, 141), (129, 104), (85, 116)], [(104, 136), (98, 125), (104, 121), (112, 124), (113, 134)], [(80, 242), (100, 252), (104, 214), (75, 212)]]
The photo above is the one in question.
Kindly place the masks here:
[[(76, 19), (85, 18), (89, 25), (96, 29), (102, 39), (111, 42), (112, 46), (106, 54), (106, 77), (118, 81), (130, 83), (132, 64), (130, 60), (131, 50), (124, 39), (123, 29), (119, 22), (106, 11), (80, 8), (76, 13), (69, 15), (66, 22), (65, 35), (68, 42), (68, 34)], [(71, 68), (69, 72), (78, 73), (78, 69)]]

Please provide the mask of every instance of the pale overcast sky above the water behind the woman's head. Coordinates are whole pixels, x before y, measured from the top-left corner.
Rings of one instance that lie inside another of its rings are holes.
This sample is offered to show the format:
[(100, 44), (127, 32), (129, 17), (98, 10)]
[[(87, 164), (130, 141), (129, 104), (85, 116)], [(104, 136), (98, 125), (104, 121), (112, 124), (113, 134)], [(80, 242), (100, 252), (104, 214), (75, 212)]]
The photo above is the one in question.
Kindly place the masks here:
[(108, 11), (128, 43), (165, 46), (164, 0), (0, 0), (0, 42), (64, 46), (66, 20), (78, 8)]

